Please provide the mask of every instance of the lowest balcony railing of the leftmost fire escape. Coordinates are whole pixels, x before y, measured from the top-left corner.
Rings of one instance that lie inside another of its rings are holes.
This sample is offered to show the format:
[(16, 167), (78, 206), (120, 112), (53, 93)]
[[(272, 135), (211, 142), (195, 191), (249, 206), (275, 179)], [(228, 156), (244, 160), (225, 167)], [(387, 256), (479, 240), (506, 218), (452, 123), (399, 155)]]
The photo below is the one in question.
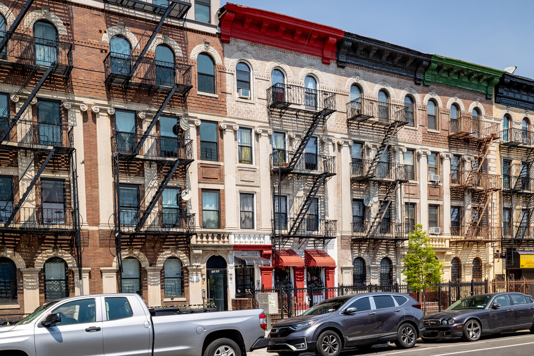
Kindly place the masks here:
[(66, 208), (25, 208), (17, 211), (11, 223), (4, 227), (5, 223), (13, 212), (13, 205), (10, 203), (0, 204), (0, 231), (24, 230), (35, 233), (72, 233), (76, 230), (74, 226), (75, 209)]

